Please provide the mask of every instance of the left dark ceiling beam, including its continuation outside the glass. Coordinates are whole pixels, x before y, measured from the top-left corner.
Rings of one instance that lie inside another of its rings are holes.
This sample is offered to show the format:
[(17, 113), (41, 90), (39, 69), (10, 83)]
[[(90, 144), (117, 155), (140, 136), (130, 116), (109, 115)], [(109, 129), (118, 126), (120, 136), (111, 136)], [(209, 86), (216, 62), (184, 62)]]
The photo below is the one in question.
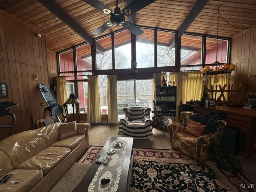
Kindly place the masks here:
[[(62, 22), (69, 26), (74, 32), (86, 40), (90, 45), (93, 44), (92, 37), (82, 28), (55, 0), (38, 0), (52, 14), (58, 17)], [(104, 49), (96, 43), (96, 49), (104, 54)]]

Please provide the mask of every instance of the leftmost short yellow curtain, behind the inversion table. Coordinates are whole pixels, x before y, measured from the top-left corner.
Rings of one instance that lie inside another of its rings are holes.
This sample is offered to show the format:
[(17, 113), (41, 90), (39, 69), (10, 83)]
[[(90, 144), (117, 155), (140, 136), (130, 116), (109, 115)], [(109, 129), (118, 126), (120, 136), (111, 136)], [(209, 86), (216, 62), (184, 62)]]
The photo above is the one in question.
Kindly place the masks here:
[(67, 88), (66, 88), (66, 78), (65, 77), (57, 77), (56, 78), (57, 85), (57, 102), (60, 105), (63, 105), (66, 102), (67, 98)]

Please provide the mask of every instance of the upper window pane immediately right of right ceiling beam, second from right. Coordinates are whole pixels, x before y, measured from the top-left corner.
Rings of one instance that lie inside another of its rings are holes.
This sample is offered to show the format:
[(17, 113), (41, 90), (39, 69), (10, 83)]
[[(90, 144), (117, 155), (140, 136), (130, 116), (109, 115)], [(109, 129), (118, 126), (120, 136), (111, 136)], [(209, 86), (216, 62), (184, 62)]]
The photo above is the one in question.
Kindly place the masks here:
[(182, 35), (180, 65), (202, 64), (202, 37)]

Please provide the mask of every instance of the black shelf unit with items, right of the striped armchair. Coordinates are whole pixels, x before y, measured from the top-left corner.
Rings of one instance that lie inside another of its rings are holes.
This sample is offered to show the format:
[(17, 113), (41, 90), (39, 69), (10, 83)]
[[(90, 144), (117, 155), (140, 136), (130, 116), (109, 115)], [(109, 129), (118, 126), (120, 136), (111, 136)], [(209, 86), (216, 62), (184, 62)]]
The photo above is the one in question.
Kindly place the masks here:
[(168, 118), (172, 121), (176, 116), (176, 103), (177, 103), (177, 87), (156, 86), (156, 116), (160, 120), (162, 127), (166, 127), (169, 124)]

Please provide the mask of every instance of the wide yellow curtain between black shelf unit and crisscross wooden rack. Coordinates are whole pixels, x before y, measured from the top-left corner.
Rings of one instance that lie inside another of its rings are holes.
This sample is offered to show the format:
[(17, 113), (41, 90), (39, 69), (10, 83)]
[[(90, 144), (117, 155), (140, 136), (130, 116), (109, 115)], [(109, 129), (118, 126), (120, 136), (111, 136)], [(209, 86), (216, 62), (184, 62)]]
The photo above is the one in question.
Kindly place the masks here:
[(177, 104), (182, 100), (186, 101), (200, 100), (203, 94), (203, 80), (200, 72), (178, 72), (176, 73), (177, 79)]

